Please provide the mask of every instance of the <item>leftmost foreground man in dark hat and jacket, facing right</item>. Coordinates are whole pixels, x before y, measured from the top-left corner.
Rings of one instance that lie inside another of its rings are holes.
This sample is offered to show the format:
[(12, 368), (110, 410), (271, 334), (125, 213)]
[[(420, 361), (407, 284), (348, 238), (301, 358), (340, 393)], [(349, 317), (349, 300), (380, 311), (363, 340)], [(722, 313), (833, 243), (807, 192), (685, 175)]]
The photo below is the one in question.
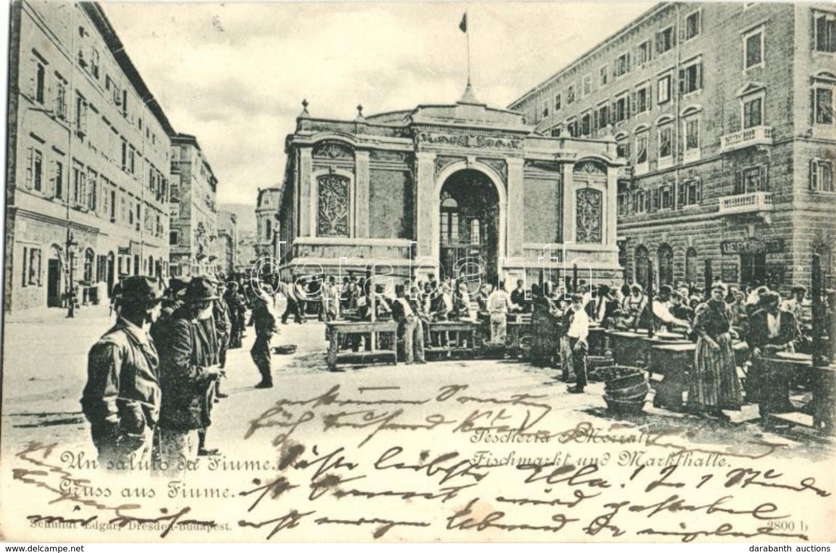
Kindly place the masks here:
[(81, 408), (106, 469), (144, 460), (150, 452), (161, 389), (149, 330), (160, 317), (162, 298), (152, 279), (126, 277), (115, 325), (90, 348)]

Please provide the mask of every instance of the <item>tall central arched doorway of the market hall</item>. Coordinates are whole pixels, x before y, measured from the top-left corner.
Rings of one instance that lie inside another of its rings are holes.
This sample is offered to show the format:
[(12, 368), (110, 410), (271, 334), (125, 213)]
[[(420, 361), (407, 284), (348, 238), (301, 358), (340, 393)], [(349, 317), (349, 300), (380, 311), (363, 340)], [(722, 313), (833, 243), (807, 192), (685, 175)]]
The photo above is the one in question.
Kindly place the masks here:
[(459, 170), (441, 186), (439, 266), (441, 278), (497, 282), (499, 198), (492, 181), (477, 170)]

